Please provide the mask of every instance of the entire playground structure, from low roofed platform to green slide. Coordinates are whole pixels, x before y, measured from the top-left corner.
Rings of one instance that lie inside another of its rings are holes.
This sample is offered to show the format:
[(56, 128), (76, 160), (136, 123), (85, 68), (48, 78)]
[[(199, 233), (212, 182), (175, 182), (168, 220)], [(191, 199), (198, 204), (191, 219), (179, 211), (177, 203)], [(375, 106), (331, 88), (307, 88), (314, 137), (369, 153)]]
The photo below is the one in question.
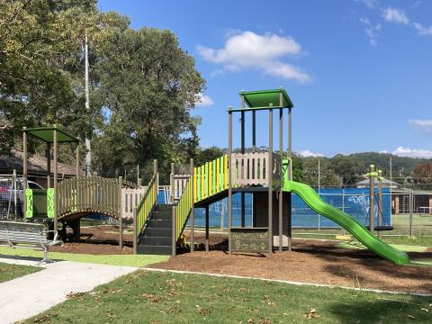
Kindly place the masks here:
[[(279, 111), (279, 149), (274, 151), (273, 121), (274, 112)], [(268, 150), (257, 150), (257, 112), (268, 112)], [(288, 131), (286, 154), (283, 149), (284, 112), (288, 112)], [(240, 148), (233, 149), (233, 114), (240, 114)], [(246, 151), (246, 113), (252, 116), (252, 150)], [(153, 175), (140, 200), (130, 200), (133, 207), (133, 250), (139, 254), (175, 255), (178, 244), (183, 238), (186, 224), (190, 225), (190, 249), (194, 248), (194, 208), (205, 209), (205, 247), (209, 249), (209, 206), (212, 202), (228, 198), (229, 254), (236, 252), (273, 253), (292, 249), (292, 194), (302, 200), (320, 215), (333, 220), (347, 229), (355, 238), (377, 255), (398, 265), (407, 264), (409, 257), (374, 236), (374, 216), (370, 217), (369, 230), (356, 219), (337, 208), (323, 202), (320, 196), (308, 185), (293, 181), (292, 170), (292, 119), (293, 103), (283, 88), (275, 90), (240, 93), (240, 108), (228, 109), (229, 151), (228, 154), (194, 166), (191, 159), (189, 172), (175, 172), (171, 166), (170, 203), (157, 203), (158, 172), (154, 162)], [(47, 216), (53, 220), (54, 231), (58, 232), (58, 221), (74, 229), (79, 237), (79, 220), (89, 213), (97, 212), (119, 221), (119, 241), (122, 246), (122, 208), (121, 191), (124, 183), (119, 179), (103, 179), (94, 176), (79, 176), (79, 140), (58, 128), (24, 129), (24, 189), (26, 183), (27, 136), (31, 135), (47, 143), (47, 152), (54, 146), (54, 179), (48, 179), (46, 191)], [(58, 183), (57, 156), (58, 143), (76, 144), (76, 178)], [(48, 154), (49, 157), (49, 154)], [(50, 158), (49, 158), (50, 160)], [(48, 164), (50, 168), (50, 164)], [(50, 174), (50, 170), (49, 173)], [(371, 169), (370, 215), (374, 215), (374, 178), (378, 173)], [(379, 191), (380, 192), (380, 191)], [(252, 194), (252, 226), (245, 224), (245, 194)], [(25, 190), (25, 215), (31, 218), (32, 192)], [(241, 197), (240, 226), (232, 224), (232, 196)], [(380, 199), (380, 198), (379, 198)], [(135, 204), (135, 206), (134, 206)], [(380, 207), (379, 207), (380, 208)], [(129, 208), (128, 208), (129, 209)], [(130, 213), (128, 214), (130, 215)]]

